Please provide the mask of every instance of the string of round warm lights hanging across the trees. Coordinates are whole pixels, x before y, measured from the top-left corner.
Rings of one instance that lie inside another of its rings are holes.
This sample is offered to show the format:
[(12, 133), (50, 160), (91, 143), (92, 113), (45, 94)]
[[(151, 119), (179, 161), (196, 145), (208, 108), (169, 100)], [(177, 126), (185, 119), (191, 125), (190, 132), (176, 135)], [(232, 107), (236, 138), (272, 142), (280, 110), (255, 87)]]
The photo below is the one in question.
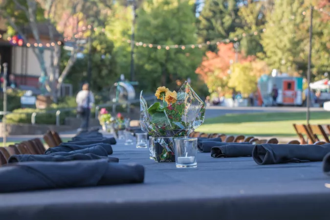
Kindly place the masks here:
[[(314, 10), (318, 11), (318, 12), (321, 12), (321, 13), (324, 13), (324, 14), (327, 14), (330, 16), (330, 13), (325, 11), (323, 8), (318, 8), (318, 7), (314, 7)], [(306, 15), (306, 11), (303, 11), (302, 13), (303, 15)], [(291, 16), (291, 19), (294, 19), (295, 16), (292, 15)], [(67, 37), (67, 38), (64, 38), (64, 41), (65, 42), (71, 42), (72, 39), (76, 39), (76, 40), (80, 40), (80, 39), (84, 39), (84, 32), (85, 31), (89, 31), (90, 29), (92, 29), (92, 25), (87, 25), (87, 26), (83, 26), (81, 27), (81, 30), (80, 32), (76, 33), (73, 35), (73, 37)], [(94, 27), (93, 28), (94, 31), (102, 31), (104, 33), (106, 33), (106, 29), (105, 28), (100, 28), (100, 27)], [(265, 32), (266, 29), (263, 28), (259, 31), (254, 31), (253, 33), (249, 33), (249, 34), (246, 34), (246, 33), (243, 33), (241, 36), (237, 36), (237, 37), (234, 37), (234, 38), (231, 38), (231, 39), (223, 39), (223, 40), (214, 40), (214, 41), (207, 41), (205, 43), (200, 43), (200, 44), (185, 44), (185, 45), (179, 45), (179, 44), (173, 44), (173, 45), (164, 45), (164, 44), (151, 44), (151, 43), (144, 43), (144, 42), (136, 42), (136, 41), (133, 41), (133, 43), (136, 45), (136, 46), (143, 46), (143, 47), (150, 47), (150, 48), (157, 48), (157, 49), (166, 49), (166, 50), (169, 50), (169, 49), (186, 49), (186, 48), (202, 48), (203, 46), (208, 46), (208, 45), (213, 45), (213, 44), (220, 44), (220, 43), (230, 43), (230, 42), (236, 42), (238, 41), (239, 39), (242, 39), (246, 36), (252, 36), (252, 35), (258, 35), (259, 32), (262, 31), (262, 32)], [(106, 33), (108, 37), (111, 37), (111, 35), (109, 33)], [(3, 36), (0, 34), (0, 39), (2, 38)], [(116, 37), (113, 37), (114, 39), (117, 39)], [(14, 36), (14, 37), (7, 37), (7, 39), (5, 39), (9, 42), (11, 42), (11, 44), (14, 44), (14, 45), (18, 45), (18, 46), (26, 46), (26, 47), (46, 47), (46, 48), (50, 48), (50, 47), (54, 47), (56, 44), (57, 45), (61, 45), (62, 42), (61, 41), (57, 41), (57, 42), (51, 42), (51, 43), (46, 43), (46, 44), (38, 44), (38, 43), (25, 43), (23, 42), (22, 38), (20, 38), (19, 36)], [(131, 40), (130, 39), (126, 39), (126, 38), (122, 38), (121, 39), (123, 42), (127, 42), (129, 44), (131, 44)]]

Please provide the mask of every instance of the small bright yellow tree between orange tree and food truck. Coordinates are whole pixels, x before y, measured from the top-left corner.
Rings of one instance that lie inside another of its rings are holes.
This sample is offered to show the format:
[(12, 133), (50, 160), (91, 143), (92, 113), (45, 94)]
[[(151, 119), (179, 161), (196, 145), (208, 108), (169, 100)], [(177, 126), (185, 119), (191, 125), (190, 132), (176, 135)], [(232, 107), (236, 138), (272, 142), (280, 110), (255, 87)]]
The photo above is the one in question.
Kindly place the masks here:
[(248, 95), (257, 89), (257, 76), (253, 73), (251, 63), (234, 64), (228, 86), (235, 88), (243, 95)]

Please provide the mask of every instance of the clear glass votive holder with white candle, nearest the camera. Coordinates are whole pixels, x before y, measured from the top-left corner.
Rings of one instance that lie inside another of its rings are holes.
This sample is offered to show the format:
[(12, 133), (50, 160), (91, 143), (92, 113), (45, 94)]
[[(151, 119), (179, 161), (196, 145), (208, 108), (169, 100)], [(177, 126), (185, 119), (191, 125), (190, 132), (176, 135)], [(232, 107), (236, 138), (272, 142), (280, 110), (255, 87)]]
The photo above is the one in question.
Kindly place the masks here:
[(176, 168), (197, 167), (197, 138), (175, 138)]

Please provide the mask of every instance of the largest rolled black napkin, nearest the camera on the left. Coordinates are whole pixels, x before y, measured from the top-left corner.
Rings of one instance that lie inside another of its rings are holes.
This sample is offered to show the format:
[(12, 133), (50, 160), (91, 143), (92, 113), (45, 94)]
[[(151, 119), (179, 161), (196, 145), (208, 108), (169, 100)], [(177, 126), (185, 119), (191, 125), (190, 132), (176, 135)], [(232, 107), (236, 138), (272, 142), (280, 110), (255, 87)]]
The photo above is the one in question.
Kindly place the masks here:
[(106, 159), (11, 163), (0, 168), (0, 193), (144, 181), (144, 167)]

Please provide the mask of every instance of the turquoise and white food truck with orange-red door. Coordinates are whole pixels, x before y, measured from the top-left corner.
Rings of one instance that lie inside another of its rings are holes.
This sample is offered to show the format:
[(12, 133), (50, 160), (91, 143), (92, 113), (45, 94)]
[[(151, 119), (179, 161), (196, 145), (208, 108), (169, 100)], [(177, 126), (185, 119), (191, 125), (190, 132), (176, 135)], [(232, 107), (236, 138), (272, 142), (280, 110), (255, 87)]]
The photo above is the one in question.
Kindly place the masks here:
[(273, 74), (262, 75), (258, 80), (258, 104), (272, 106), (273, 86), (278, 89), (277, 105), (301, 106), (303, 104), (303, 78)]

